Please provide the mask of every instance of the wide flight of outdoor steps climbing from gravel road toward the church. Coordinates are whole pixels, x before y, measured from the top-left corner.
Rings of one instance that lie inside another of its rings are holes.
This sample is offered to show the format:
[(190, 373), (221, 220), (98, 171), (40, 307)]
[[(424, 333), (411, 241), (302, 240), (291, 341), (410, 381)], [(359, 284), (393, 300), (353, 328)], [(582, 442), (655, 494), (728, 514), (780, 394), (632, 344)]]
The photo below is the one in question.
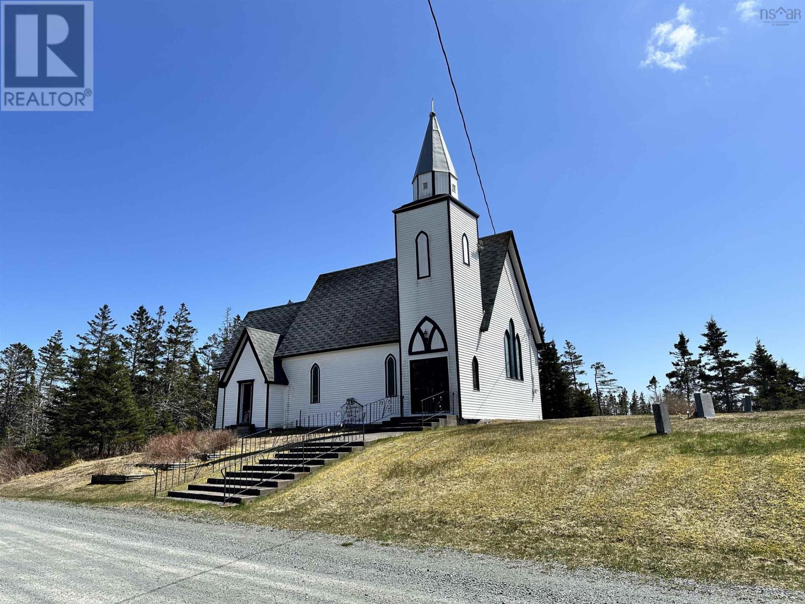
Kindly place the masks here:
[(291, 482), (363, 449), (363, 446), (363, 441), (307, 442), (274, 453), (273, 457), (254, 459), (237, 466), (237, 470), (226, 470), (223, 477), (208, 478), (207, 482), (189, 485), (186, 490), (168, 491), (167, 497), (185, 501), (246, 503), (284, 489)]

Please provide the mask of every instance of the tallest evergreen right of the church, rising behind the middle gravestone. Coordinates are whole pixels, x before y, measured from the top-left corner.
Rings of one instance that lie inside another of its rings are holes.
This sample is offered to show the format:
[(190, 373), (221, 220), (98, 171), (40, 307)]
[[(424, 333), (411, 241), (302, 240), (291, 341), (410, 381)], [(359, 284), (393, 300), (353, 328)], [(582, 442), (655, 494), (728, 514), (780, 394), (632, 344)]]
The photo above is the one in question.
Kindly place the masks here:
[(702, 336), (704, 344), (699, 346), (699, 378), (704, 389), (712, 394), (713, 402), (719, 410), (732, 413), (735, 411), (738, 396), (749, 391), (744, 384), (745, 365), (737, 353), (726, 347), (727, 333), (712, 316), (705, 325)]

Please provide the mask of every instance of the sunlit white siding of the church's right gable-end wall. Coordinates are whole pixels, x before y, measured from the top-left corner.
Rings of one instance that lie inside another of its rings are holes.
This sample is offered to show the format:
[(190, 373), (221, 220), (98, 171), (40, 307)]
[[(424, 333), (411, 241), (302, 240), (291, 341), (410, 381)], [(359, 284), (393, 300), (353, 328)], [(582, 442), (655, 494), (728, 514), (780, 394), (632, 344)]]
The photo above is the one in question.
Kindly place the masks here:
[[(511, 250), (510, 250), (511, 251)], [(461, 313), (459, 313), (460, 316)], [(522, 347), (522, 381), (506, 378), (506, 362), (503, 353), (503, 334), (514, 321), (514, 330), (520, 336)], [(489, 330), (480, 334), (477, 345), (464, 350), (461, 338), (461, 411), (467, 419), (543, 419), (542, 401), (539, 395), (539, 370), (537, 351), (528, 328), (526, 309), (514, 278), (511, 254), (506, 255), (501, 281), (497, 286), (497, 298), (489, 322)], [(481, 390), (473, 391), (471, 363), (473, 355), (478, 358), (478, 373)]]

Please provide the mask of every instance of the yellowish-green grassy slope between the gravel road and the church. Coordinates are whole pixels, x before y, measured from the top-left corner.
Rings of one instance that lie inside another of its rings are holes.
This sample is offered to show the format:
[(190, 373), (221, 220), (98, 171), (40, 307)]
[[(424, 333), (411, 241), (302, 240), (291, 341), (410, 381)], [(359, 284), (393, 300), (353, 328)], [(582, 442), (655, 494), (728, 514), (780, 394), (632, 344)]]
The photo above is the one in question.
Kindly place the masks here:
[[(155, 501), (147, 484), (87, 486), (74, 466), (2, 485), (0, 495), (805, 588), (805, 412), (673, 425), (671, 436), (653, 436), (650, 417), (415, 433), (244, 507)], [(68, 485), (59, 474), (71, 471)]]

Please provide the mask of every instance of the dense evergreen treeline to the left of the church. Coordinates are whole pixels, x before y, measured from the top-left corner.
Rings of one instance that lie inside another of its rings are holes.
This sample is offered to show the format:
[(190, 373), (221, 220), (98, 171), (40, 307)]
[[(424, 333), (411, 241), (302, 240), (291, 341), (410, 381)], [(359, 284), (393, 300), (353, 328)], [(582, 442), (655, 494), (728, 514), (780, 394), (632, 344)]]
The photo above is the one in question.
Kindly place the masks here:
[(170, 320), (140, 306), (118, 330), (104, 304), (69, 351), (57, 331), (37, 353), (21, 342), (0, 351), (0, 448), (40, 452), (49, 465), (108, 457), (150, 436), (213, 426), (213, 362), (240, 319), (196, 346), (181, 304)]

